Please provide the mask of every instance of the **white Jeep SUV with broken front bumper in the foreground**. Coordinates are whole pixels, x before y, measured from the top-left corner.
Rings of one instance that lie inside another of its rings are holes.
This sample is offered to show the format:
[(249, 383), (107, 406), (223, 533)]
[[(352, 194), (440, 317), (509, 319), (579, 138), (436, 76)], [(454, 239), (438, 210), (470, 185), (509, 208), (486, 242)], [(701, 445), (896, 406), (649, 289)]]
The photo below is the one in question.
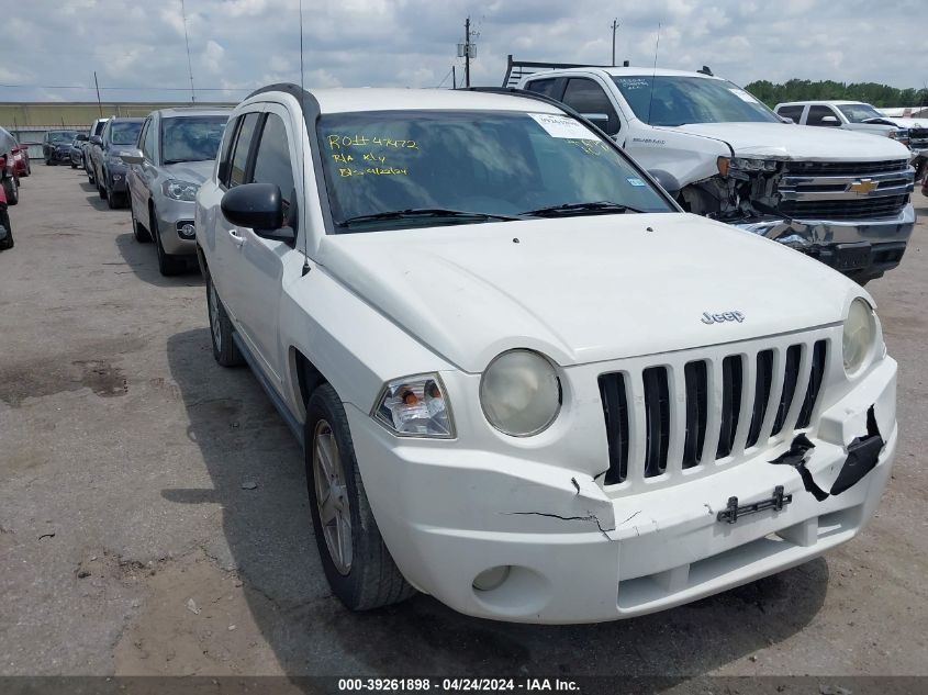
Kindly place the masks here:
[(850, 540), (888, 478), (873, 299), (549, 100), (258, 90), (195, 229), (213, 355), (304, 444), (350, 608), (651, 613)]

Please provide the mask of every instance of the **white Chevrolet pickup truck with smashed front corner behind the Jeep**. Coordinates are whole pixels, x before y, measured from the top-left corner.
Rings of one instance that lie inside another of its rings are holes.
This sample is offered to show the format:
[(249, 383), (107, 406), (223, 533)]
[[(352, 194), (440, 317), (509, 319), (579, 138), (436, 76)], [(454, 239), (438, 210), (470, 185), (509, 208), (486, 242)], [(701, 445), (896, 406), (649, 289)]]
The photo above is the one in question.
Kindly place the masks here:
[(504, 86), (563, 102), (690, 212), (776, 239), (859, 282), (902, 260), (915, 225), (908, 149), (785, 124), (704, 72), (516, 61)]

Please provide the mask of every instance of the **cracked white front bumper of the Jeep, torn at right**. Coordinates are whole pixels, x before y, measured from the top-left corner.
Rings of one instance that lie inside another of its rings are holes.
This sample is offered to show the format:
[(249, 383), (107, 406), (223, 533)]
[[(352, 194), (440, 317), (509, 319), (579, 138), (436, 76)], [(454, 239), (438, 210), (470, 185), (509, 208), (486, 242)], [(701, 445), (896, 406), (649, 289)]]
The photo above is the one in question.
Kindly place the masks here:
[[(871, 407), (883, 441), (872, 470), (823, 501), (798, 468), (771, 464), (787, 441), (675, 485), (612, 492), (569, 462), (401, 440), (364, 411), (346, 411), (378, 526), (413, 585), (473, 616), (594, 623), (695, 601), (853, 538), (895, 456), (895, 380), (896, 365), (884, 358), (816, 418), (803, 464), (832, 493), (854, 442), (870, 435)], [(779, 487), (791, 501), (764, 505)], [(762, 508), (719, 520), (731, 496)], [(474, 587), (497, 568), (499, 585)]]

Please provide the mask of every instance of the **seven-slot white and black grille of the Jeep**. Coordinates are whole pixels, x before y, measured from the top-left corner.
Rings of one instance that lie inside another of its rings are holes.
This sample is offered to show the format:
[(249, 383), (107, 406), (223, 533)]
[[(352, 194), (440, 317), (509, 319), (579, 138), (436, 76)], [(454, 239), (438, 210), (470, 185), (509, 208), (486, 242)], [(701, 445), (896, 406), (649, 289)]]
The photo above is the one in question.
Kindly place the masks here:
[[(751, 447), (765, 446), (769, 436), (789, 437), (808, 427), (827, 359), (827, 341), (819, 339), (729, 355), (720, 362), (695, 359), (682, 370), (657, 365), (637, 374), (601, 374), (610, 464), (605, 484), (737, 458)], [(629, 403), (640, 404), (642, 418)], [(644, 451), (641, 460), (636, 460), (636, 451)]]

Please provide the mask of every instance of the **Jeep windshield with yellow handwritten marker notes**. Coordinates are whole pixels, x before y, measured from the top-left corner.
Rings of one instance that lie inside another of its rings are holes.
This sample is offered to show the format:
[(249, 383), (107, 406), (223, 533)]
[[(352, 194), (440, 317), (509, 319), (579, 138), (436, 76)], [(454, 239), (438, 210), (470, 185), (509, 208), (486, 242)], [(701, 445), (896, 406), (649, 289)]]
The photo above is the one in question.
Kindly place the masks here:
[(675, 212), (613, 145), (563, 114), (335, 113), (317, 136), (339, 233)]

